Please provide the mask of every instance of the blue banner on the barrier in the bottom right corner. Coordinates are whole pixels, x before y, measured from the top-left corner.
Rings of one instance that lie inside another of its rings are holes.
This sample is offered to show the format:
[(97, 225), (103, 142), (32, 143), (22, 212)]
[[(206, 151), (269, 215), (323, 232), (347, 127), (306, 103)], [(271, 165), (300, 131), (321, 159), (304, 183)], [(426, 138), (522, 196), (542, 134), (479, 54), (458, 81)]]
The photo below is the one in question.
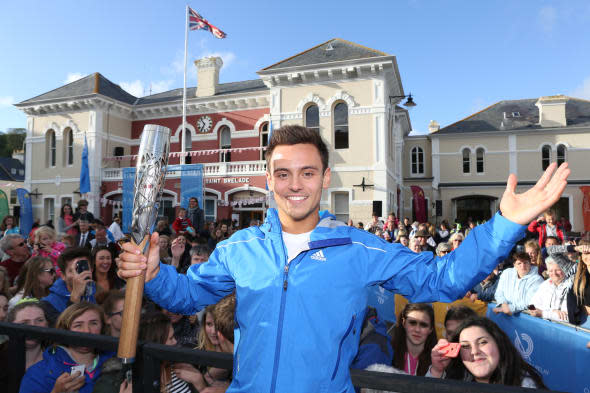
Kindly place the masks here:
[(590, 333), (573, 326), (532, 317), (494, 314), (488, 305), (487, 317), (510, 337), (522, 357), (535, 367), (549, 389), (562, 392), (590, 391)]

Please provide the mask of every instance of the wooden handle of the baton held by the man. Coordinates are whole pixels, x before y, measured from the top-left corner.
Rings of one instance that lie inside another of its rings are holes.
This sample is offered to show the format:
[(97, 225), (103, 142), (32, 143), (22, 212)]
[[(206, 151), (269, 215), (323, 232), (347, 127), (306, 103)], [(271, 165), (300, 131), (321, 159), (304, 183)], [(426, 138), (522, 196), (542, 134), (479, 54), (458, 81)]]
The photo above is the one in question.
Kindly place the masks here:
[[(149, 241), (146, 235), (139, 248), (143, 250)], [(132, 239), (131, 242), (136, 244)], [(146, 255), (147, 257), (147, 255)], [(123, 363), (133, 363), (137, 350), (137, 335), (139, 333), (139, 317), (141, 316), (141, 301), (143, 299), (143, 286), (145, 284), (145, 270), (140, 276), (127, 279), (125, 286), (125, 305), (123, 306), (123, 325), (119, 337), (119, 350), (117, 356)]]

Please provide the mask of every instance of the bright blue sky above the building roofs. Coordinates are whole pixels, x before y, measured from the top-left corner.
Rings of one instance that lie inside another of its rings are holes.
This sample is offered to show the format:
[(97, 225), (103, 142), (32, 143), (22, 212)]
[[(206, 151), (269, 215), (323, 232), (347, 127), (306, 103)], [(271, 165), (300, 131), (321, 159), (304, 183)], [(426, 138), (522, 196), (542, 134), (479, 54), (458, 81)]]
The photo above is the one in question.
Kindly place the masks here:
[[(25, 127), (13, 103), (100, 72), (135, 95), (182, 86), (184, 7), (168, 1), (12, 1), (0, 13), (0, 130)], [(397, 56), (415, 132), (503, 99), (590, 99), (590, 2), (189, 2), (228, 38), (189, 32), (192, 61), (218, 54), (220, 79), (339, 37)]]

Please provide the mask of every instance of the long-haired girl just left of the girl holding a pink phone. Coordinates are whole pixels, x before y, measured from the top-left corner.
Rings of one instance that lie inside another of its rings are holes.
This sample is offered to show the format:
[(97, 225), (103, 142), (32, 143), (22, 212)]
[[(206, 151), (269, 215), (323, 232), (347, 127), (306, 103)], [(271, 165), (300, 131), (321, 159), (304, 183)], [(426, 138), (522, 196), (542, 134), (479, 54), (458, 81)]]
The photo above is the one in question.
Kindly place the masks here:
[(428, 304), (409, 303), (393, 331), (393, 367), (424, 376), (430, 367), (430, 351), (436, 345), (434, 310)]

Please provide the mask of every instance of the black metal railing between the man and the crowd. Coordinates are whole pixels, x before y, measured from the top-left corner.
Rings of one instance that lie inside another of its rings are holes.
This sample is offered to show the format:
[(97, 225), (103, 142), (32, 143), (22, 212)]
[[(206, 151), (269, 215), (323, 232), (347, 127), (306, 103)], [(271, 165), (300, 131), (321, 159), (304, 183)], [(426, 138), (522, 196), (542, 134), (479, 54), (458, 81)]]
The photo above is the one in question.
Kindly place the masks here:
[[(103, 351), (116, 351), (119, 340), (110, 336), (77, 333), (67, 330), (42, 328), (36, 326), (16, 325), (0, 322), (0, 334), (6, 334), (15, 340), (14, 372), (19, 380), (25, 373), (25, 339), (33, 338), (54, 343), (87, 346)], [(204, 366), (213, 366), (231, 370), (233, 359), (230, 354), (221, 352), (199, 351), (190, 348), (171, 347), (154, 343), (139, 343), (138, 358), (141, 357), (141, 384), (134, 385), (134, 392), (160, 392), (160, 362), (183, 362)], [(388, 374), (364, 370), (350, 370), (352, 383), (358, 388), (369, 388), (399, 393), (530, 393), (530, 389), (488, 385), (482, 383), (462, 382), (438, 378), (414, 377), (410, 375)]]

